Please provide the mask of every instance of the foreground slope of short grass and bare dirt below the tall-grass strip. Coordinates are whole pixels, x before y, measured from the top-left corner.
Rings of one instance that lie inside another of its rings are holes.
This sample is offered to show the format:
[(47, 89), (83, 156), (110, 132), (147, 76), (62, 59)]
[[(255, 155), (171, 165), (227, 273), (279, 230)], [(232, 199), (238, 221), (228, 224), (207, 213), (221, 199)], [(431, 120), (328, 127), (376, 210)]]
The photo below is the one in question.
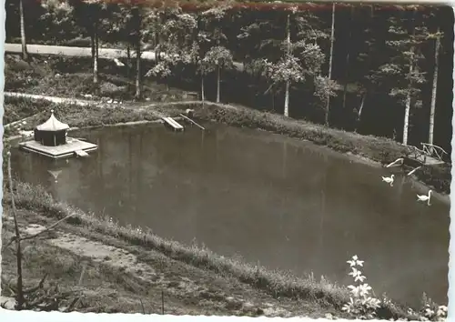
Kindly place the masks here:
[[(14, 226), (10, 207), (4, 209), (5, 245), (14, 235)], [(56, 222), (55, 216), (24, 207), (19, 207), (18, 217), (22, 236)], [(60, 224), (22, 245), (25, 287), (35, 287), (47, 275), (43, 290), (58, 285), (53, 296), (65, 297), (61, 308), (79, 298), (74, 307), (78, 312), (161, 314), (164, 308), (165, 314), (250, 317), (337, 313), (317, 303), (280, 301), (233, 277), (219, 277), (75, 223)], [(15, 274), (15, 247), (7, 247), (3, 249), (2, 296), (12, 297), (5, 286), (14, 285)]]

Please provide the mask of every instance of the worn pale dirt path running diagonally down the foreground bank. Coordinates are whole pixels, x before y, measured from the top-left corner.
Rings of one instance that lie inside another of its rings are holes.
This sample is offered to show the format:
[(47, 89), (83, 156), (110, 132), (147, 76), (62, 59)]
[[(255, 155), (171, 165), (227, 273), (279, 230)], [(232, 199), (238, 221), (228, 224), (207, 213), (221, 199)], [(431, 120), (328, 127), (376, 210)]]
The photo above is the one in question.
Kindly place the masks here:
[[(6, 221), (11, 221), (11, 218), (8, 217)], [(21, 225), (21, 232), (24, 236), (35, 235), (45, 229), (45, 226), (28, 223)], [(168, 308), (176, 307), (178, 310), (178, 307), (188, 306), (193, 307), (198, 314), (204, 314), (206, 309), (208, 313), (213, 307), (217, 307), (218, 313), (229, 315), (266, 317), (305, 316), (305, 313), (312, 315), (312, 309), (308, 309), (303, 303), (301, 305), (294, 301), (280, 303), (277, 299), (259, 295), (260, 292), (237, 282), (223, 277), (212, 277), (210, 273), (182, 265), (156, 251), (141, 248), (138, 253), (136, 247), (114, 246), (108, 241), (106, 243), (89, 238), (86, 234), (81, 236), (77, 233), (76, 227), (66, 229), (65, 226), (68, 227), (65, 224), (60, 226), (43, 241), (51, 247), (74, 254), (80, 260), (89, 260), (95, 265), (123, 272), (131, 277), (136, 285), (145, 289), (163, 289)], [(112, 240), (112, 243), (116, 241)], [(231, 283), (235, 284), (230, 285)], [(160, 297), (159, 294), (157, 297)], [(157, 302), (159, 301), (157, 298)]]

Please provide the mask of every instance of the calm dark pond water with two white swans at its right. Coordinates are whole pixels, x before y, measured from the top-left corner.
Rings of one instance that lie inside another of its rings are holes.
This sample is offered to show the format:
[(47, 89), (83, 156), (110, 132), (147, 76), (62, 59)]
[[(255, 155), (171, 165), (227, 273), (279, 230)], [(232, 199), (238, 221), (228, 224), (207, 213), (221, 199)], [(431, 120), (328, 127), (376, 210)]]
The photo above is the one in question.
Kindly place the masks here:
[(381, 181), (389, 169), (324, 147), (207, 127), (72, 133), (99, 150), (68, 161), (15, 151), (14, 171), (86, 211), (296, 275), (349, 285), (346, 261), (358, 255), (377, 293), (417, 306), (427, 292), (446, 303), (450, 205), (418, 203), (422, 191), (404, 176), (391, 187)]

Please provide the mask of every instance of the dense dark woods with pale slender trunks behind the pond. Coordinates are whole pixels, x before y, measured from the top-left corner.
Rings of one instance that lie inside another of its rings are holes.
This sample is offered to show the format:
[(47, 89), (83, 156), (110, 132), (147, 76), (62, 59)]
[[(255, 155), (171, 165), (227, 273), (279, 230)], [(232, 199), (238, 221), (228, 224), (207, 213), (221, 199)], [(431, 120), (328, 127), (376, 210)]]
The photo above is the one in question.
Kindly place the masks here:
[[(127, 75), (450, 152), (449, 6), (6, 0), (6, 42), (127, 49)], [(154, 65), (141, 52), (155, 51)]]

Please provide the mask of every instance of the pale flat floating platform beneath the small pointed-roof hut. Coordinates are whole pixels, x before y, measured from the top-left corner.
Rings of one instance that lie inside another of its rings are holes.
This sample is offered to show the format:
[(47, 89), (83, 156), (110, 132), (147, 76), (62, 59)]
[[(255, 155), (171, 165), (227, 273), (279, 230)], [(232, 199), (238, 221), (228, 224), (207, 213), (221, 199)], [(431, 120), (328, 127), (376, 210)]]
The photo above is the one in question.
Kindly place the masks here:
[(63, 146), (43, 146), (35, 140), (19, 143), (25, 151), (33, 152), (42, 156), (49, 156), (55, 159), (68, 156), (86, 156), (87, 152), (94, 151), (98, 146), (93, 143), (81, 141), (76, 138), (66, 137), (66, 145)]

